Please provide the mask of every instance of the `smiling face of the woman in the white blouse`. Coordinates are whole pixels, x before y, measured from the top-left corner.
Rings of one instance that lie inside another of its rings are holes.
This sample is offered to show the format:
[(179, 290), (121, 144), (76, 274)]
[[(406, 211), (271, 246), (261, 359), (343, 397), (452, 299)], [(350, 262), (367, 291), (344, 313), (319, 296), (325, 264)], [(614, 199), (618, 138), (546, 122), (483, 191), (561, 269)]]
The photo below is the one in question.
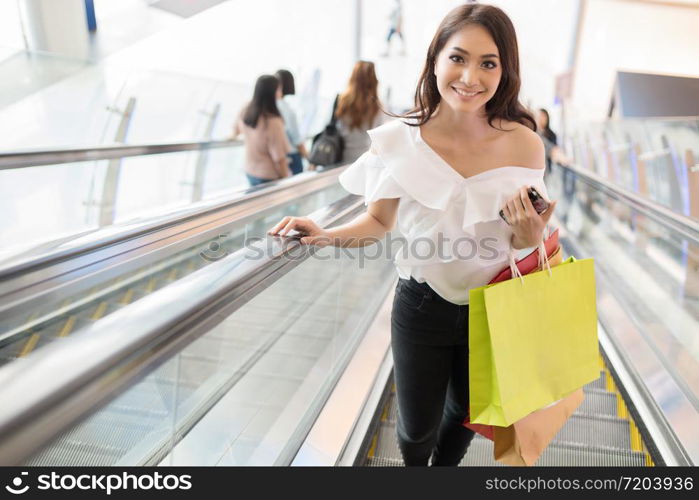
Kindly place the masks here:
[(502, 76), (500, 53), (490, 33), (477, 24), (454, 33), (437, 55), (434, 74), (442, 102), (454, 111), (485, 107)]

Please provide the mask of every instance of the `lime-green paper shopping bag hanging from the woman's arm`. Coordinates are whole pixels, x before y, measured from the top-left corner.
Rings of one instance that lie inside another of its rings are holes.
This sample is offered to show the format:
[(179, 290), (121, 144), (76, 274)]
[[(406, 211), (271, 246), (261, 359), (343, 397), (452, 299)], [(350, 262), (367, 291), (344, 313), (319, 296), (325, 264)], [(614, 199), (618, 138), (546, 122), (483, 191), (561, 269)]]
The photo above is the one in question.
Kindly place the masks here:
[(598, 377), (592, 259), (470, 290), (471, 422), (506, 427)]

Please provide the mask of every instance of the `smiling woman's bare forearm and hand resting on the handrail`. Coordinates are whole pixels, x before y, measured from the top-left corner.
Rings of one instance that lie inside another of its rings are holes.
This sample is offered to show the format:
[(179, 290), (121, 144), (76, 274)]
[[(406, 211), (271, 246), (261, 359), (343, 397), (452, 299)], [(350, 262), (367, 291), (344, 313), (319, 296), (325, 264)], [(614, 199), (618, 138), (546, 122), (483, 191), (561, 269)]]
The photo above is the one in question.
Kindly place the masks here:
[(308, 245), (355, 248), (376, 243), (393, 229), (398, 213), (399, 198), (369, 203), (367, 211), (352, 221), (332, 229), (321, 229), (308, 217), (284, 217), (269, 234), (285, 236), (296, 230), (305, 236), (301, 242)]

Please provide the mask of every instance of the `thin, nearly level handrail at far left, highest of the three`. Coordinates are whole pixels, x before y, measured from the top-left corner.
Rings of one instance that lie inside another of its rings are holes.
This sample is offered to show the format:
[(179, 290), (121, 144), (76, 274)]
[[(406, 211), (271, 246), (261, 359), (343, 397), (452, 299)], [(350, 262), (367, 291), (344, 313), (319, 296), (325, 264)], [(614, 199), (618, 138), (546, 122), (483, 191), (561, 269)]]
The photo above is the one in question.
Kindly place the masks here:
[(146, 156), (183, 151), (203, 151), (243, 146), (240, 140), (170, 142), (150, 144), (109, 144), (104, 146), (55, 149), (27, 149), (0, 152), (0, 170), (44, 165), (61, 165), (83, 161), (114, 160), (131, 156)]

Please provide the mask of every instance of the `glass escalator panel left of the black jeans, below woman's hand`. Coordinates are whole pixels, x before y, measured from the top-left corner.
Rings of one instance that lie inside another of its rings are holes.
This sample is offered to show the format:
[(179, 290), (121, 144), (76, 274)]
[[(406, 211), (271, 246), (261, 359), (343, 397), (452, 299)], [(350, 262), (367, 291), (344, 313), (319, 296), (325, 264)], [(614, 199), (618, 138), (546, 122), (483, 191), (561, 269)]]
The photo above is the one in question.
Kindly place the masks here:
[(394, 276), (321, 249), (27, 464), (290, 463)]

